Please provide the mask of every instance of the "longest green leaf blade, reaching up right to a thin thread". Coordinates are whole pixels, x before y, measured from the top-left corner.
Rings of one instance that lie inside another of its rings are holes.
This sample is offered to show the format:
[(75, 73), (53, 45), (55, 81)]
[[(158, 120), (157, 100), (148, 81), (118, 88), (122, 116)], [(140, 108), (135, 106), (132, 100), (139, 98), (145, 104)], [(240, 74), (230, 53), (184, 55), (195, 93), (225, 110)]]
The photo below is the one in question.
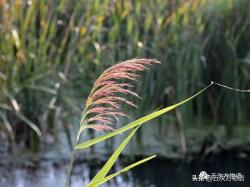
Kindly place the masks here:
[(190, 100), (192, 100), (193, 98), (195, 98), (196, 96), (198, 96), (199, 94), (201, 94), (202, 92), (204, 92), (205, 90), (207, 90), (212, 84), (213, 84), (213, 83), (209, 84), (207, 87), (205, 87), (204, 89), (202, 89), (202, 90), (199, 91), (198, 93), (194, 94), (193, 96), (191, 96), (191, 97), (185, 99), (184, 101), (181, 101), (181, 102), (179, 102), (179, 103), (177, 103), (177, 104), (175, 104), (175, 105), (166, 107), (166, 108), (161, 109), (161, 110), (159, 110), (159, 111), (157, 111), (157, 112), (153, 112), (153, 113), (151, 113), (151, 114), (149, 114), (149, 115), (147, 115), (147, 116), (144, 116), (144, 117), (142, 117), (142, 118), (139, 118), (138, 120), (136, 120), (136, 121), (134, 121), (134, 122), (131, 122), (131, 123), (129, 123), (128, 125), (126, 125), (126, 126), (124, 126), (124, 127), (121, 127), (121, 128), (119, 128), (119, 129), (117, 129), (117, 130), (115, 130), (115, 131), (113, 131), (113, 132), (107, 133), (107, 134), (105, 134), (105, 135), (103, 135), (103, 136), (100, 136), (100, 137), (91, 139), (91, 140), (86, 141), (86, 142), (81, 143), (81, 144), (78, 144), (78, 145), (75, 146), (75, 149), (85, 149), (85, 148), (90, 147), (90, 146), (92, 146), (92, 145), (94, 145), (94, 144), (96, 144), (96, 143), (102, 142), (102, 141), (104, 141), (104, 140), (106, 140), (106, 139), (108, 139), (108, 138), (111, 138), (111, 137), (113, 137), (113, 136), (116, 136), (117, 134), (120, 134), (120, 133), (122, 133), (122, 132), (125, 132), (125, 131), (127, 131), (127, 130), (129, 130), (129, 129), (135, 128), (135, 127), (137, 127), (137, 126), (140, 125), (140, 124), (143, 124), (143, 123), (145, 123), (145, 122), (148, 122), (148, 121), (150, 121), (150, 120), (152, 120), (152, 119), (154, 119), (154, 118), (156, 118), (156, 117), (158, 117), (158, 116), (160, 116), (160, 115), (162, 115), (162, 114), (164, 114), (164, 113), (166, 113), (166, 112), (168, 112), (168, 111), (170, 111), (170, 110), (173, 110), (173, 109), (175, 109), (176, 107), (181, 106), (181, 105), (183, 105), (184, 103), (186, 103), (186, 102), (188, 102), (188, 101), (190, 101)]

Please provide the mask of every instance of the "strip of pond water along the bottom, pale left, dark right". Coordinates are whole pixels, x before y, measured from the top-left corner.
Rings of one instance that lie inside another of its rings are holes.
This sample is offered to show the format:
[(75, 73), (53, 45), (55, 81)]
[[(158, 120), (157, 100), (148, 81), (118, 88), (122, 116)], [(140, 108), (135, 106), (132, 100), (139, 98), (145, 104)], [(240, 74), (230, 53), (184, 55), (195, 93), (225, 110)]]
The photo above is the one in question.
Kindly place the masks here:
[[(139, 158), (138, 158), (139, 159)], [(137, 159), (136, 159), (137, 160)], [(124, 167), (119, 162), (114, 171)], [(72, 187), (82, 187), (89, 182), (97, 168), (102, 164), (94, 161), (81, 162), (74, 167)], [(64, 186), (66, 162), (43, 161), (37, 164), (26, 164), (25, 167), (14, 165), (0, 166), (1, 187), (61, 187)], [(112, 171), (112, 172), (114, 172)], [(241, 173), (244, 182), (192, 182), (192, 175), (199, 175), (201, 171), (207, 173)], [(157, 158), (130, 172), (118, 176), (107, 187), (249, 187), (250, 159), (228, 155), (212, 156), (188, 160)]]

